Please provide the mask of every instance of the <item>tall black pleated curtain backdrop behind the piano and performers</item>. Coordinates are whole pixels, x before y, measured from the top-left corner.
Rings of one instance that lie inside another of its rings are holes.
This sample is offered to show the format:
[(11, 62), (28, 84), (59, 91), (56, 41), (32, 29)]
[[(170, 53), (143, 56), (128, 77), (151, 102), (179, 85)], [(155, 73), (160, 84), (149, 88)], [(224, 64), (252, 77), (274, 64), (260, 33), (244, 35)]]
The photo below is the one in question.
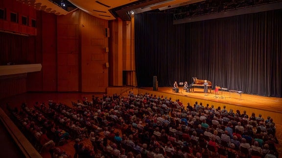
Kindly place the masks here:
[(282, 97), (282, 10), (173, 25), (169, 13), (135, 15), (139, 87), (207, 79), (229, 90)]

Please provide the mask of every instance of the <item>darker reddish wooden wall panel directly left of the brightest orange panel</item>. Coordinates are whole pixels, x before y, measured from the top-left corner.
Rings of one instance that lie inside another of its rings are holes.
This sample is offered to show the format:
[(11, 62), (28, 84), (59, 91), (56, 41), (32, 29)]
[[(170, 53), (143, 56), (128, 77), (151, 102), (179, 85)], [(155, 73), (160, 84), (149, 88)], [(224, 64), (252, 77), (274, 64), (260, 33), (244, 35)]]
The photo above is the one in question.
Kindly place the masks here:
[(57, 78), (59, 92), (80, 91), (78, 12), (57, 17)]

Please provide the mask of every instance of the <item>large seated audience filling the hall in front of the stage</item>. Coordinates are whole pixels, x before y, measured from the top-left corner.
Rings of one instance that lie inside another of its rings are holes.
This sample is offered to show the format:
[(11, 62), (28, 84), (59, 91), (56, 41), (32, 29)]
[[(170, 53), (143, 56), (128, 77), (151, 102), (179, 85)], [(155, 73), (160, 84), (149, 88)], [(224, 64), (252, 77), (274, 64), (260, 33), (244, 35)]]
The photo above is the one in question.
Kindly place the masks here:
[[(246, 111), (240, 114), (236, 110), (235, 114), (233, 109), (228, 112), (226, 106), (221, 110), (198, 102), (194, 106), (188, 103), (185, 108), (179, 99), (132, 92), (128, 97), (104, 95), (100, 99), (93, 96), (93, 101), (82, 100), (72, 102), (73, 107), (51, 100), (48, 105), (23, 104), (18, 114), (27, 133), (43, 146), (58, 146), (62, 138), (75, 139), (74, 158), (201, 158), (208, 153), (208, 144), (216, 153), (218, 148), (227, 147), (232, 156), (247, 148), (248, 155), (278, 157), (275, 123), (271, 117), (264, 120), (261, 114), (256, 117), (252, 113), (249, 117)], [(93, 146), (84, 145), (81, 140), (85, 138)], [(52, 149), (53, 155), (64, 153), (56, 147)]]

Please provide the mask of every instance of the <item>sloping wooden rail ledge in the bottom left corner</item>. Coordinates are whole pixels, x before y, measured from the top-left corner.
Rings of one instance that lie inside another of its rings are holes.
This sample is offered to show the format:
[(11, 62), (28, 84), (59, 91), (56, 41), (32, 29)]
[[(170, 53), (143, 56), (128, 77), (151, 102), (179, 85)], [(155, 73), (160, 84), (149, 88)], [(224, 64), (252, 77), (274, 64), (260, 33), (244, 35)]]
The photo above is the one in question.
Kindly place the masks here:
[(6, 127), (8, 133), (14, 139), (25, 158), (42, 158), (14, 122), (5, 114), (2, 108), (0, 108), (0, 120), (3, 122), (3, 125)]

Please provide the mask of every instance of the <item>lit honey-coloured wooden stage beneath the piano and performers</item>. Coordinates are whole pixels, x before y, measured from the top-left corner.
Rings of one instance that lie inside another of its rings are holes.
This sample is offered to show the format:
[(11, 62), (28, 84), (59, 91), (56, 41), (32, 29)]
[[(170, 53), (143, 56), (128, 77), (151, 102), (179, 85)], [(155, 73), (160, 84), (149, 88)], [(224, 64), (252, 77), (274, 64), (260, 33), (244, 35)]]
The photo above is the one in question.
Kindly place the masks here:
[[(180, 99), (186, 106), (189, 102), (191, 106), (194, 105), (195, 101), (198, 103), (202, 102), (203, 106), (207, 103), (215, 108), (226, 105), (228, 110), (233, 109), (234, 111), (240, 110), (243, 113), (246, 110), (250, 116), (253, 112), (258, 116), (261, 114), (263, 118), (271, 116), (275, 123), (282, 124), (282, 98), (274, 97), (262, 97), (258, 95), (249, 94), (238, 94), (219, 91), (219, 95), (215, 96), (214, 90), (209, 91), (208, 96), (204, 95), (204, 89), (195, 88), (194, 92), (186, 92), (181, 87), (179, 93), (172, 92), (172, 87), (158, 87), (157, 91), (153, 91), (152, 87), (139, 88), (139, 94), (153, 94), (158, 96), (164, 96), (171, 98), (172, 100)], [(216, 98), (217, 97), (217, 98)]]

